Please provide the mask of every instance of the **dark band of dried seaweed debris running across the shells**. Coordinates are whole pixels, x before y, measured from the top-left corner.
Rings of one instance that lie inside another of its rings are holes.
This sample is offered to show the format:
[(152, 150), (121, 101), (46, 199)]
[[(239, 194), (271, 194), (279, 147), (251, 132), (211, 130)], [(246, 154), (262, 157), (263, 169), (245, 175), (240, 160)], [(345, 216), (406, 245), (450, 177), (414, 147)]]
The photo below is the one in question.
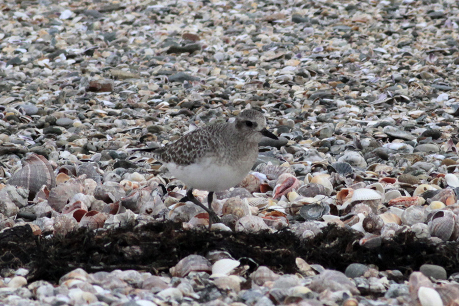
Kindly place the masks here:
[(87, 272), (136, 269), (168, 272), (189, 254), (206, 255), (225, 250), (250, 266), (265, 265), (284, 273), (298, 272), (295, 258), (309, 264), (344, 271), (351, 263), (374, 264), (380, 270), (397, 269), (406, 276), (424, 263), (459, 269), (458, 243), (429, 245), (411, 234), (399, 235), (378, 248), (358, 244), (361, 234), (328, 226), (314, 240), (301, 242), (289, 231), (275, 234), (182, 231), (180, 224), (159, 222), (138, 228), (107, 232), (77, 231), (64, 237), (34, 236), (29, 226), (17, 226), (0, 234), (0, 270), (30, 269), (29, 281), (57, 282), (78, 267)]

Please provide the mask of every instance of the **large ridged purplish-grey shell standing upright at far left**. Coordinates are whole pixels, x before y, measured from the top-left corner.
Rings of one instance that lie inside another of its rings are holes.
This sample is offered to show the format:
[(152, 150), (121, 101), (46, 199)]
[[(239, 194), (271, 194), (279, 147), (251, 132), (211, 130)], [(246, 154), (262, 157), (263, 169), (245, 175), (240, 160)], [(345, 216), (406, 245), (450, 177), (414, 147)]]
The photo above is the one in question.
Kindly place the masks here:
[(15, 172), (7, 181), (8, 185), (20, 186), (29, 190), (29, 199), (45, 185), (51, 189), (56, 186), (53, 167), (41, 155), (31, 154), (25, 158), (22, 168)]

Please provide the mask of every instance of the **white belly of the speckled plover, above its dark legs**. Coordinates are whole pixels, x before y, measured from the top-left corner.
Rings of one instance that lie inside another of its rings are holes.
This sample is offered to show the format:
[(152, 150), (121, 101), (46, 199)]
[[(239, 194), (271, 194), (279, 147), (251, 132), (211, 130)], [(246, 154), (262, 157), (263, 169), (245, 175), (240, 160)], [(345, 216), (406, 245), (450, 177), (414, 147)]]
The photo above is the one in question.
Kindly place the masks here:
[(250, 171), (252, 165), (239, 164), (239, 169), (236, 169), (230, 165), (217, 165), (207, 160), (201, 164), (188, 166), (176, 166), (171, 163), (167, 163), (166, 166), (170, 173), (187, 184), (188, 188), (221, 191), (239, 184)]

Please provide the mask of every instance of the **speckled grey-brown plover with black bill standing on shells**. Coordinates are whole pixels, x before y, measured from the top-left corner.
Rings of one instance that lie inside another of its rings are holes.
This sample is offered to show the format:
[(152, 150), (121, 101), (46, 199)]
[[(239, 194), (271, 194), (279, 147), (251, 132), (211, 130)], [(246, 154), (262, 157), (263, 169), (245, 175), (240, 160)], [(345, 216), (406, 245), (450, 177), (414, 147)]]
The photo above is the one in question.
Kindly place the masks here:
[[(255, 110), (244, 110), (233, 122), (215, 123), (196, 129), (174, 143), (160, 148), (136, 149), (162, 162), (170, 173), (187, 185), (187, 198), (219, 221), (212, 210), (215, 191), (239, 184), (258, 157), (263, 137), (277, 139), (266, 129), (266, 119)], [(194, 196), (193, 189), (207, 190), (208, 208)]]

